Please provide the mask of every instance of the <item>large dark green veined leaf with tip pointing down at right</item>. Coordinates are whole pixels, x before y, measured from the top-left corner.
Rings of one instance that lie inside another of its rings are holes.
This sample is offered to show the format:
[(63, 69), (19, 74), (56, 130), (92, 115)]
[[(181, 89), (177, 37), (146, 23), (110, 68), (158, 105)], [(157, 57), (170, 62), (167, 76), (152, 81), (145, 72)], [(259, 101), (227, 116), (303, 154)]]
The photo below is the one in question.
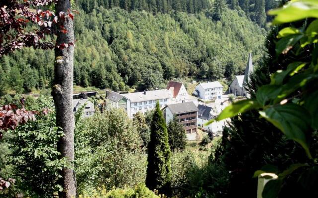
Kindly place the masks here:
[(308, 157), (312, 158), (305, 136), (310, 125), (309, 113), (305, 108), (288, 103), (264, 109), (259, 114), (279, 128), (288, 139), (298, 142), (305, 149)]

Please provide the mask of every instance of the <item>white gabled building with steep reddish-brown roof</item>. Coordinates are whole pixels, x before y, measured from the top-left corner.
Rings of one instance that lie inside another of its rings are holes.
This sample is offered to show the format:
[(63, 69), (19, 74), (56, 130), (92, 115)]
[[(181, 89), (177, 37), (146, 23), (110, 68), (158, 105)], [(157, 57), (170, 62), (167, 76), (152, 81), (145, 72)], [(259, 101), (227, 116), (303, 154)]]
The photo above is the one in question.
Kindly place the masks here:
[(169, 81), (167, 90), (169, 90), (172, 95), (170, 104), (193, 102), (195, 105), (198, 105), (198, 99), (188, 94), (183, 83)]

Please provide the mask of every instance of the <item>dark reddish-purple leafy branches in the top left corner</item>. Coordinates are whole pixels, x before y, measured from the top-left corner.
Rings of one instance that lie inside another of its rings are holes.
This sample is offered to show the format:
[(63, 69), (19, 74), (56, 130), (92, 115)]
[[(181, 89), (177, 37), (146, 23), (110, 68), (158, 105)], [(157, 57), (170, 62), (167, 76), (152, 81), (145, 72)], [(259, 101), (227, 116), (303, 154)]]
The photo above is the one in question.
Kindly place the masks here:
[[(66, 16), (72, 20), (74, 14), (60, 12), (59, 17), (50, 10), (42, 10), (39, 7), (48, 6), (58, 0), (1, 0), (0, 2), (0, 57), (22, 47), (34, 47), (35, 49), (53, 49), (57, 44), (47, 41), (46, 35), (56, 34), (56, 31), (66, 33), (63, 21)], [(74, 12), (76, 12), (74, 10)], [(27, 26), (35, 24), (39, 29), (27, 30)], [(53, 24), (57, 28), (53, 28)], [(59, 48), (67, 48), (74, 42), (59, 44)]]

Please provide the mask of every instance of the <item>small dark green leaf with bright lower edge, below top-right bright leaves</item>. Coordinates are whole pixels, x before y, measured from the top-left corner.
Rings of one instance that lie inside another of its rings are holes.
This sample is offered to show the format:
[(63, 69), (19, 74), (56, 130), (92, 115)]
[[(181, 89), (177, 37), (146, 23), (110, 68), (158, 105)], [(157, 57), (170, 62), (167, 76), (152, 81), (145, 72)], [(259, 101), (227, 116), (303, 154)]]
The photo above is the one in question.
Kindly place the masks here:
[(289, 35), (276, 43), (276, 54), (286, 54), (303, 37), (303, 35)]

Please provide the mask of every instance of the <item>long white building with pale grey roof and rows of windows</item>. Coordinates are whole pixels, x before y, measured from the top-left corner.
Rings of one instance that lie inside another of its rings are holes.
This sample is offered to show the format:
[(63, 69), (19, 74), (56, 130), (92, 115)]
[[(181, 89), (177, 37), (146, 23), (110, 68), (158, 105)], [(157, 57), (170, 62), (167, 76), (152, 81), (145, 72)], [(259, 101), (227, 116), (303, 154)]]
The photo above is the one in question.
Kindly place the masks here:
[(122, 94), (127, 99), (127, 114), (133, 118), (137, 112), (145, 113), (146, 111), (156, 108), (156, 101), (159, 101), (160, 107), (168, 105), (171, 99), (171, 93), (167, 89), (134, 92)]

